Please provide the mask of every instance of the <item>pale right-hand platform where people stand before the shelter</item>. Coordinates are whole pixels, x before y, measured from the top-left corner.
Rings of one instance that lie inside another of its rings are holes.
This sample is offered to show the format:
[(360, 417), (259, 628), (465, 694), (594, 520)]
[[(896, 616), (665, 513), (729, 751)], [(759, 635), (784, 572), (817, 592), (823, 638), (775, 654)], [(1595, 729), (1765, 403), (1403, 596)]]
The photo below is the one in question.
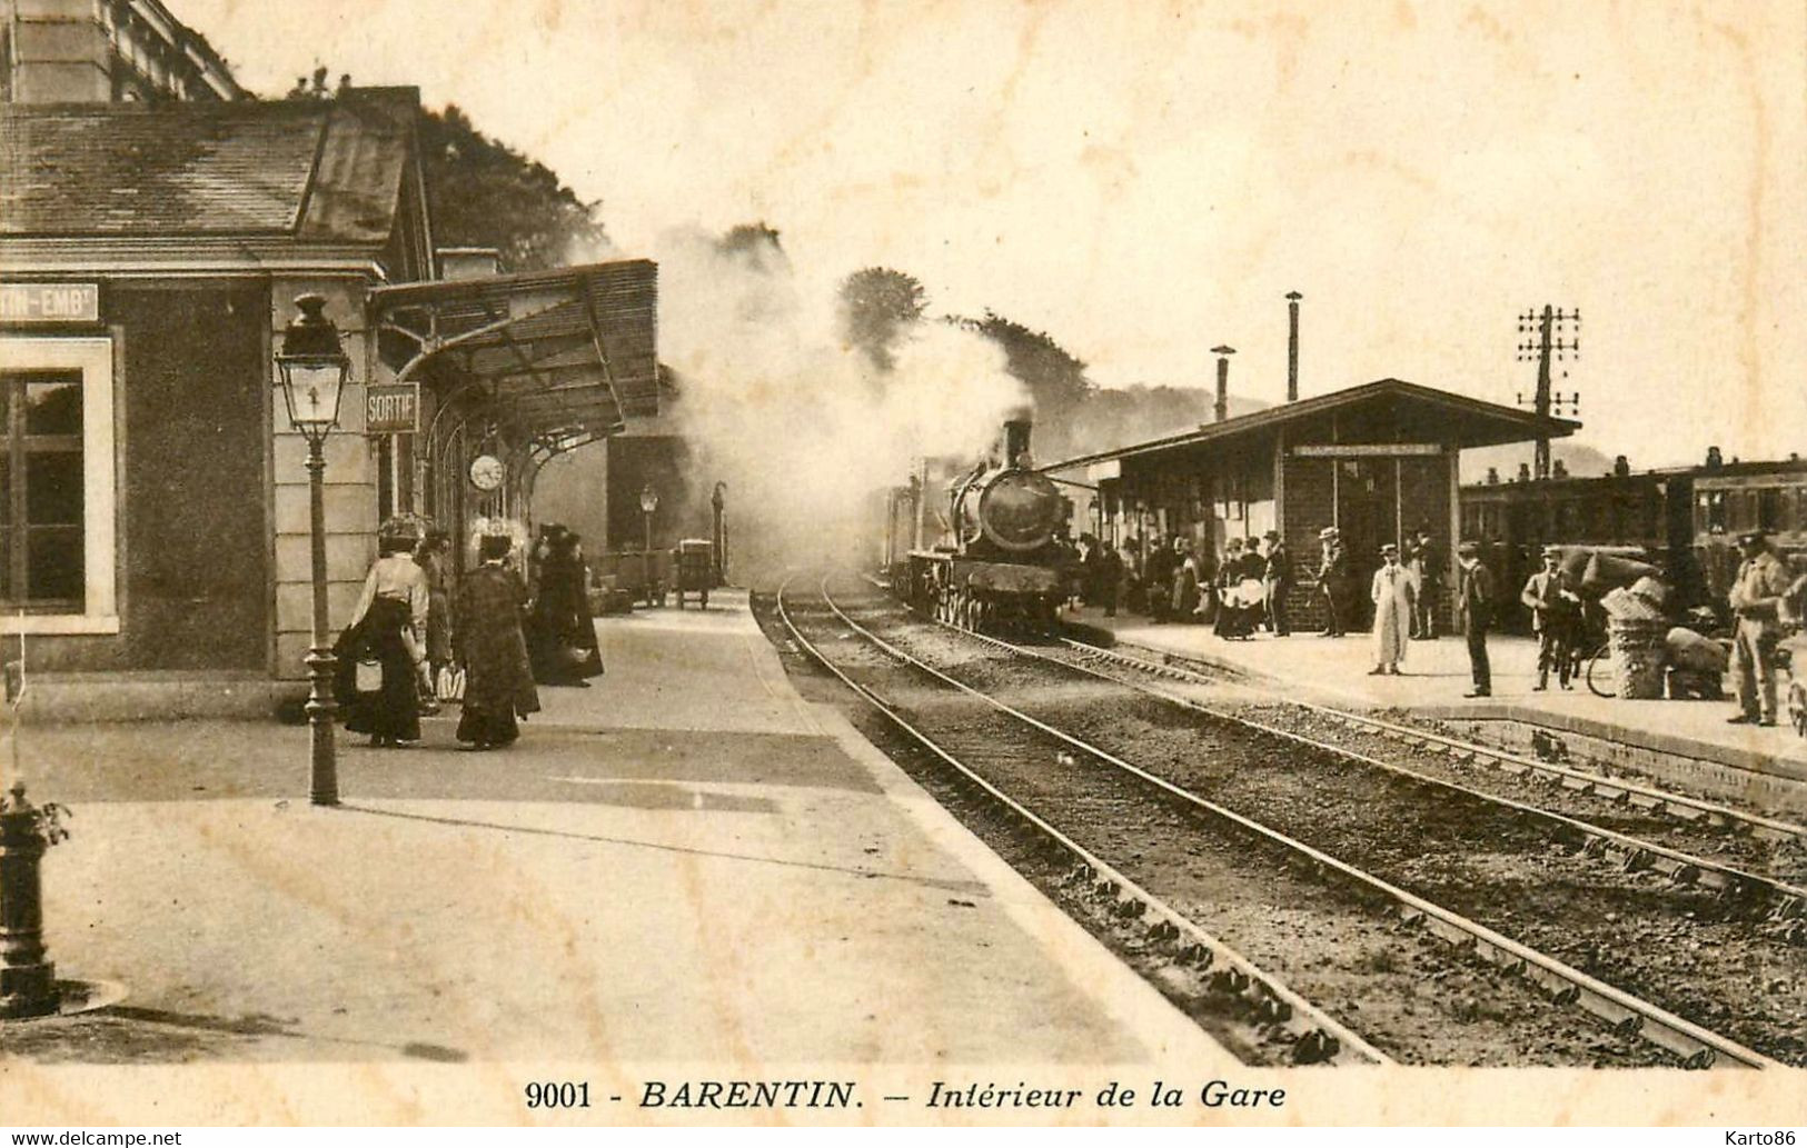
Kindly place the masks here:
[(1603, 699), (1574, 682), (1534, 691), (1538, 644), (1531, 637), (1493, 634), (1487, 655), (1493, 695), (1464, 699), (1471, 690), (1467, 643), (1460, 634), (1408, 643), (1399, 677), (1370, 677), (1368, 634), (1323, 637), (1294, 632), (1250, 641), (1225, 641), (1209, 625), (1156, 625), (1146, 616), (1104, 617), (1099, 608), (1063, 614), (1124, 648), (1153, 652), (1245, 675), (1261, 688), (1283, 688), (1330, 706), (1397, 709), (1444, 720), (1511, 747), (1549, 747), (1556, 738), (1576, 756), (1594, 756), (1675, 782), (1715, 798), (1747, 800), (1776, 814), (1807, 814), (1807, 738), (1787, 717), (1774, 727), (1729, 726), (1735, 702)]

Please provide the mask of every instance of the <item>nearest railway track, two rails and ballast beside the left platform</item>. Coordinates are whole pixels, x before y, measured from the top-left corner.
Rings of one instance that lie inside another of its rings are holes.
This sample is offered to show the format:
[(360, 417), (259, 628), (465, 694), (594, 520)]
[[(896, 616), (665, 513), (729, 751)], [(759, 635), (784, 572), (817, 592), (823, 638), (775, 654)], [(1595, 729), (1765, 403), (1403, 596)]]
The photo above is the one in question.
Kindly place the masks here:
[[(781, 610), (799, 644), (936, 760), (983, 787), (987, 800), (1012, 809), (1010, 819), (1035, 827), (1055, 843), (1048, 848), (1066, 850), (1073, 872), (1111, 872), (1099, 881), (1117, 890), (1119, 912), (1155, 917), (1151, 948), (1166, 946), (1180, 960), (1205, 946), (1240, 973), (1227, 987), (1241, 982), (1256, 998), (1285, 1000), (1294, 1023), (1305, 1025), (1292, 1042), (1305, 1042), (1306, 1060), (1312, 1049), (1353, 1049), (1361, 1029), (1388, 1056), (1435, 1063), (1773, 1063), (987, 697), (855, 621), (826, 587), (822, 603), (819, 641)], [(1202, 821), (1220, 832), (1198, 832)], [(1223, 922), (1250, 955), (1218, 937), (1198, 940), (1202, 930), (1191, 922), (1200, 919)], [(1294, 998), (1323, 1009), (1305, 1013)], [(1599, 1020), (1550, 1009), (1549, 998)], [(1332, 1027), (1330, 1016), (1344, 1027)]]

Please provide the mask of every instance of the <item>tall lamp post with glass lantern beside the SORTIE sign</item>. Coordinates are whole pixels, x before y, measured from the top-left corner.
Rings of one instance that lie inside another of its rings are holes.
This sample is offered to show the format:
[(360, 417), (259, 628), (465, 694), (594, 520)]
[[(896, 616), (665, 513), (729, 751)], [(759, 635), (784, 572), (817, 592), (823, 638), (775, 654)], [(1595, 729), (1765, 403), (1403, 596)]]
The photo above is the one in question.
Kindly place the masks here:
[(276, 374), (289, 426), (307, 440), (307, 518), (313, 540), (314, 632), (307, 650), (307, 726), (313, 749), (309, 796), (314, 805), (338, 805), (338, 765), (332, 751), (332, 650), (327, 644), (327, 513), (322, 448), (338, 426), (340, 397), (351, 379), (351, 359), (340, 347), (338, 327), (323, 314), (325, 296), (295, 300), (300, 316), (282, 332)]

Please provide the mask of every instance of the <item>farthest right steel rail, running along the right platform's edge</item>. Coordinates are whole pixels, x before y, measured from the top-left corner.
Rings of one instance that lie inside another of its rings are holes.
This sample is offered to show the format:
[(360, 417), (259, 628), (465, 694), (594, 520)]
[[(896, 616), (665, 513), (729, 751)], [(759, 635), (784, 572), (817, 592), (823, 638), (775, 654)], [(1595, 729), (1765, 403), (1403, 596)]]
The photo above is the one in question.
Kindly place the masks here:
[[(967, 634), (970, 634), (970, 630), (967, 630)], [(1191, 679), (1202, 684), (1211, 682), (1207, 675), (1196, 670), (1189, 670), (1185, 666), (1175, 666), (1169, 662), (1151, 662), (1147, 659), (1135, 657), (1133, 653), (1124, 653), (1120, 650), (1108, 650), (1104, 646), (1097, 646), (1093, 643), (1079, 641), (1073, 637), (1063, 637), (1061, 641), (1075, 650), (1081, 650), (1082, 653), (1124, 662), (1146, 673), (1155, 673), (1158, 677)], [(1339, 709), (1335, 706), (1325, 706), (1323, 702), (1287, 699), (1287, 704), (1299, 706), (1301, 709), (1308, 709), (1335, 722), (1350, 726), (1366, 726), (1370, 729), (1381, 731), (1382, 736), (1390, 736), (1395, 740), (1442, 745), (1453, 756), (1471, 758), (1482, 765), (1494, 765), (1494, 767), (1514, 765), (1545, 776), (1563, 778), (1567, 782), (1578, 782), (1576, 785), (1578, 792), (1594, 792), (1603, 798), (1614, 798), (1614, 800), (1624, 794), (1624, 798), (1630, 803), (1639, 805), (1641, 809), (1653, 809), (1657, 812), (1666, 812), (1677, 818), (1679, 821), (1693, 821), (1704, 818), (1709, 823), (1724, 821), (1727, 825), (1742, 825), (1753, 836), (1765, 838), (1771, 841), (1789, 841), (1789, 839), (1807, 841), (1807, 825), (1798, 825), (1794, 821), (1765, 818), (1762, 814), (1753, 814), (1742, 809), (1731, 809), (1729, 805), (1718, 805), (1704, 798), (1690, 798), (1688, 794), (1675, 794), (1650, 785), (1641, 785), (1637, 782), (1626, 782), (1623, 778), (1608, 778), (1605, 774), (1588, 773), (1585, 769), (1576, 769), (1572, 765), (1561, 765), (1558, 762), (1527, 758), (1509, 749), (1494, 749), (1491, 745), (1464, 742), (1460, 738), (1453, 738), (1449, 735), (1435, 733), (1429, 729), (1399, 726), (1397, 722), (1388, 722), (1384, 718), (1355, 713), (1353, 709)]]

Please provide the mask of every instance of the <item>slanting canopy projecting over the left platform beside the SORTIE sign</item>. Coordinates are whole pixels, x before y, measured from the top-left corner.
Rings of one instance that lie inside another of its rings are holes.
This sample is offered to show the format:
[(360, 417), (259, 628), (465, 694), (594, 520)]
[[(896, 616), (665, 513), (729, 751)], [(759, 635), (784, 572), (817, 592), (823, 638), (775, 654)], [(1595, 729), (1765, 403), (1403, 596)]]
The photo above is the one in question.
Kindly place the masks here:
[(398, 379), (569, 449), (660, 410), (658, 265), (622, 260), (381, 287), (370, 307)]

